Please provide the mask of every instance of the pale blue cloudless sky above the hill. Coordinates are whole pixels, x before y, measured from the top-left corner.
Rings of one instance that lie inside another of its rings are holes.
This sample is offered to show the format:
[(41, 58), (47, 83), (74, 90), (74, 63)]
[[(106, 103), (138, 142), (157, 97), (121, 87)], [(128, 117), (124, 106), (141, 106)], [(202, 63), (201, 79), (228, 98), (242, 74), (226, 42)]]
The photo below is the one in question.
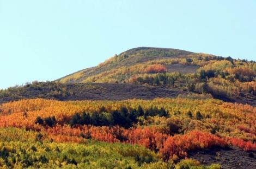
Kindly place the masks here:
[(135, 47), (256, 60), (256, 1), (0, 0), (0, 89)]

